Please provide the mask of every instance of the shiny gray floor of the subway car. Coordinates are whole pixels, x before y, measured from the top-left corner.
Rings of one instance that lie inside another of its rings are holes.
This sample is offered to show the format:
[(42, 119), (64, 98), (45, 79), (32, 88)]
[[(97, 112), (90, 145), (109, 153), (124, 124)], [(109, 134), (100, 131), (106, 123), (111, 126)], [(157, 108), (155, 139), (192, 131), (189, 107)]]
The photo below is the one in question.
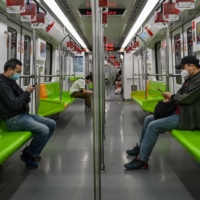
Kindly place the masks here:
[[(199, 200), (200, 165), (168, 134), (161, 135), (149, 169), (124, 170), (125, 150), (138, 141), (146, 116), (133, 102), (106, 104), (102, 200)], [(36, 170), (16, 152), (3, 165), (0, 200), (93, 200), (92, 116), (77, 100), (56, 117), (57, 129)]]

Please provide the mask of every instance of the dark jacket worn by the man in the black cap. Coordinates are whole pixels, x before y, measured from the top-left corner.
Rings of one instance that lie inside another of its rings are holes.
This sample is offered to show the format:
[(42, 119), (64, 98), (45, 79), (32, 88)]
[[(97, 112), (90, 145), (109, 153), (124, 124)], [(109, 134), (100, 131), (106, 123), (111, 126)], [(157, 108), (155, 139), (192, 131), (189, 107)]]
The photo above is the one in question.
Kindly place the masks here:
[[(185, 87), (185, 83), (188, 82)], [(187, 79), (172, 99), (181, 106), (178, 129), (200, 129), (200, 72)]]

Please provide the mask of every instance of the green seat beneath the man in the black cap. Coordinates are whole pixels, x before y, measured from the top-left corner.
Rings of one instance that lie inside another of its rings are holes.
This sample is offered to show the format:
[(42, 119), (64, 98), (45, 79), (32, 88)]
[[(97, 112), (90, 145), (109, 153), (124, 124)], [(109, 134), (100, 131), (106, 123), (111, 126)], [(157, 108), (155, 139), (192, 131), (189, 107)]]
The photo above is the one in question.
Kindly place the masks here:
[(172, 130), (171, 135), (200, 163), (200, 131)]

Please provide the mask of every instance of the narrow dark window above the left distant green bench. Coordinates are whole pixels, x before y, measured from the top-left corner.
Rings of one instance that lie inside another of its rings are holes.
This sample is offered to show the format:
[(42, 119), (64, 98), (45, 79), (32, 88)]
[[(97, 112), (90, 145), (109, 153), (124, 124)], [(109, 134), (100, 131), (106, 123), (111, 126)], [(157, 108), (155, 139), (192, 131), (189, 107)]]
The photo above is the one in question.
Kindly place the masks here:
[[(45, 75), (52, 75), (52, 45), (47, 43), (46, 45), (46, 62), (45, 62)], [(52, 77), (45, 77), (45, 82), (50, 82)]]

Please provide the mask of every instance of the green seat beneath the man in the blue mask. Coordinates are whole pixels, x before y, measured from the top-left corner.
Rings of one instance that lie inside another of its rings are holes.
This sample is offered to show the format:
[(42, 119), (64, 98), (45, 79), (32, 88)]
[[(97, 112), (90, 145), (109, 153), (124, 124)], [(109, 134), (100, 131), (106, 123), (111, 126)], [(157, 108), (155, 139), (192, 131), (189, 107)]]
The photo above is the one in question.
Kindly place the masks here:
[(31, 138), (30, 131), (10, 132), (0, 119), (0, 165)]

